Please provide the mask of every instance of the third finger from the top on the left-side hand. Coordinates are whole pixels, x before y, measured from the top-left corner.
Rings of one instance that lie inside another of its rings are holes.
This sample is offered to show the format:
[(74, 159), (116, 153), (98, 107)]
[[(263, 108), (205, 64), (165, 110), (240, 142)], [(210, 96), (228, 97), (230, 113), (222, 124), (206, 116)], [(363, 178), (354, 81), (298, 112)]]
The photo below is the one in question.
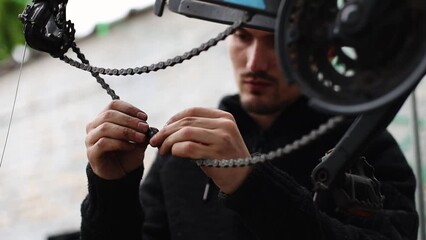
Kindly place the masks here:
[(105, 137), (135, 143), (145, 143), (148, 139), (145, 134), (134, 129), (107, 122), (99, 125), (87, 134), (86, 146), (94, 145)]

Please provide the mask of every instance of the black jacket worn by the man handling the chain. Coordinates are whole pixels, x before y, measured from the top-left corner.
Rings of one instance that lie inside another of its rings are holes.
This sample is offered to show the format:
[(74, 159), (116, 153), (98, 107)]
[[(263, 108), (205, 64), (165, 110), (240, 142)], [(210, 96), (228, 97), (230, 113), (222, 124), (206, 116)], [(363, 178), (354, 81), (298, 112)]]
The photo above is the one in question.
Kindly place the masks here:
[[(262, 132), (241, 108), (238, 96), (225, 98), (220, 109), (234, 115), (251, 153), (283, 147), (330, 118), (309, 108), (302, 98)], [(89, 168), (82, 237), (140, 239), (143, 224), (144, 240), (416, 239), (414, 175), (387, 132), (364, 154), (381, 181), (383, 211), (370, 217), (343, 214), (336, 211), (327, 194), (321, 195), (324, 204), (313, 203), (312, 169), (347, 126), (343, 124), (282, 158), (257, 164), (230, 196), (220, 194), (192, 161), (158, 156), (140, 187), (141, 208), (137, 188), (142, 169), (119, 181), (105, 181)], [(207, 184), (210, 188), (205, 197)]]

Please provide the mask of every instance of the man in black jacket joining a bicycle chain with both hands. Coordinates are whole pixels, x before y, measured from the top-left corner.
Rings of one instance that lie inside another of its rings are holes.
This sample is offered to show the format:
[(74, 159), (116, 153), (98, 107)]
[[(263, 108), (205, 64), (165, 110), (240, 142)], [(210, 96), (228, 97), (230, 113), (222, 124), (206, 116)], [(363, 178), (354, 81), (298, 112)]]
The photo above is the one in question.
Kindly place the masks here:
[[(193, 160), (267, 153), (332, 117), (286, 82), (272, 33), (240, 29), (229, 52), (239, 94), (219, 109), (180, 112), (151, 139), (146, 114), (122, 101), (87, 125), (82, 239), (416, 239), (415, 179), (387, 132), (364, 154), (385, 196), (383, 211), (368, 217), (338, 211), (330, 196), (312, 200), (311, 171), (347, 123), (270, 162), (198, 167)], [(148, 143), (159, 156), (140, 187)]]

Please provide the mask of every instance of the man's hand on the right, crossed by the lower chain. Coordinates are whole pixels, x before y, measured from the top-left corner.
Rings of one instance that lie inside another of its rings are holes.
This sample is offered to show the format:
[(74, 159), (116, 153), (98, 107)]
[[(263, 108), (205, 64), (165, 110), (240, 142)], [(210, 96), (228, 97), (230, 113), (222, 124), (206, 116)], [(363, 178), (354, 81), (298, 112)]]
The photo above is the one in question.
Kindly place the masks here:
[[(160, 154), (191, 159), (237, 159), (250, 153), (234, 117), (225, 111), (190, 108), (173, 116), (151, 138), (150, 144)], [(251, 167), (213, 168), (203, 171), (225, 193), (234, 192), (251, 172)]]

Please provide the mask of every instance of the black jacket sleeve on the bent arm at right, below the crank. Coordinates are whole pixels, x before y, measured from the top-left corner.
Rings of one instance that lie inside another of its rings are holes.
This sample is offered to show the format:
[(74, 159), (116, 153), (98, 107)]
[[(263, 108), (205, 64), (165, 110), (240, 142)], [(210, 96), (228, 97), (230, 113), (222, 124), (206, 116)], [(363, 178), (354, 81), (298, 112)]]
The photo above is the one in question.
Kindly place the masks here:
[(245, 183), (224, 198), (258, 239), (417, 239), (415, 178), (396, 142), (387, 133), (373, 144), (368, 159), (376, 169), (384, 208), (370, 217), (330, 216), (312, 193), (270, 163), (258, 164)]

